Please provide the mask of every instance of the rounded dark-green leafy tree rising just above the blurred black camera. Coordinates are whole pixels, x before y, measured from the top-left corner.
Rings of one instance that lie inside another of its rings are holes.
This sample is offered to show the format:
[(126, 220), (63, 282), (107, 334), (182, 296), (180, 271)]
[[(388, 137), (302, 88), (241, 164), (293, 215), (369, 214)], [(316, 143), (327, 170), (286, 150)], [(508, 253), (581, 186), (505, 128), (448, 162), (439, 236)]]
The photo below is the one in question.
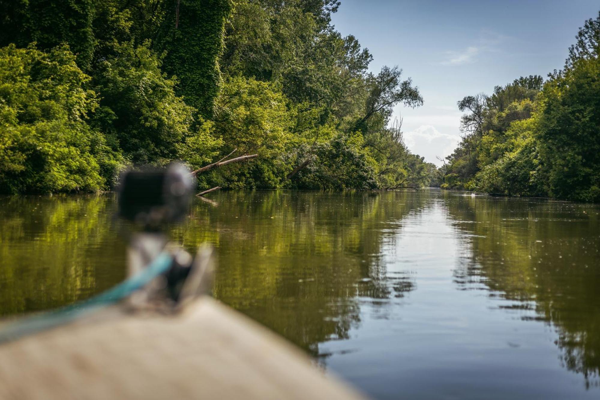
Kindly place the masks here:
[(94, 125), (135, 164), (168, 163), (193, 132), (194, 108), (175, 94), (149, 43), (116, 43), (93, 80), (101, 97)]

